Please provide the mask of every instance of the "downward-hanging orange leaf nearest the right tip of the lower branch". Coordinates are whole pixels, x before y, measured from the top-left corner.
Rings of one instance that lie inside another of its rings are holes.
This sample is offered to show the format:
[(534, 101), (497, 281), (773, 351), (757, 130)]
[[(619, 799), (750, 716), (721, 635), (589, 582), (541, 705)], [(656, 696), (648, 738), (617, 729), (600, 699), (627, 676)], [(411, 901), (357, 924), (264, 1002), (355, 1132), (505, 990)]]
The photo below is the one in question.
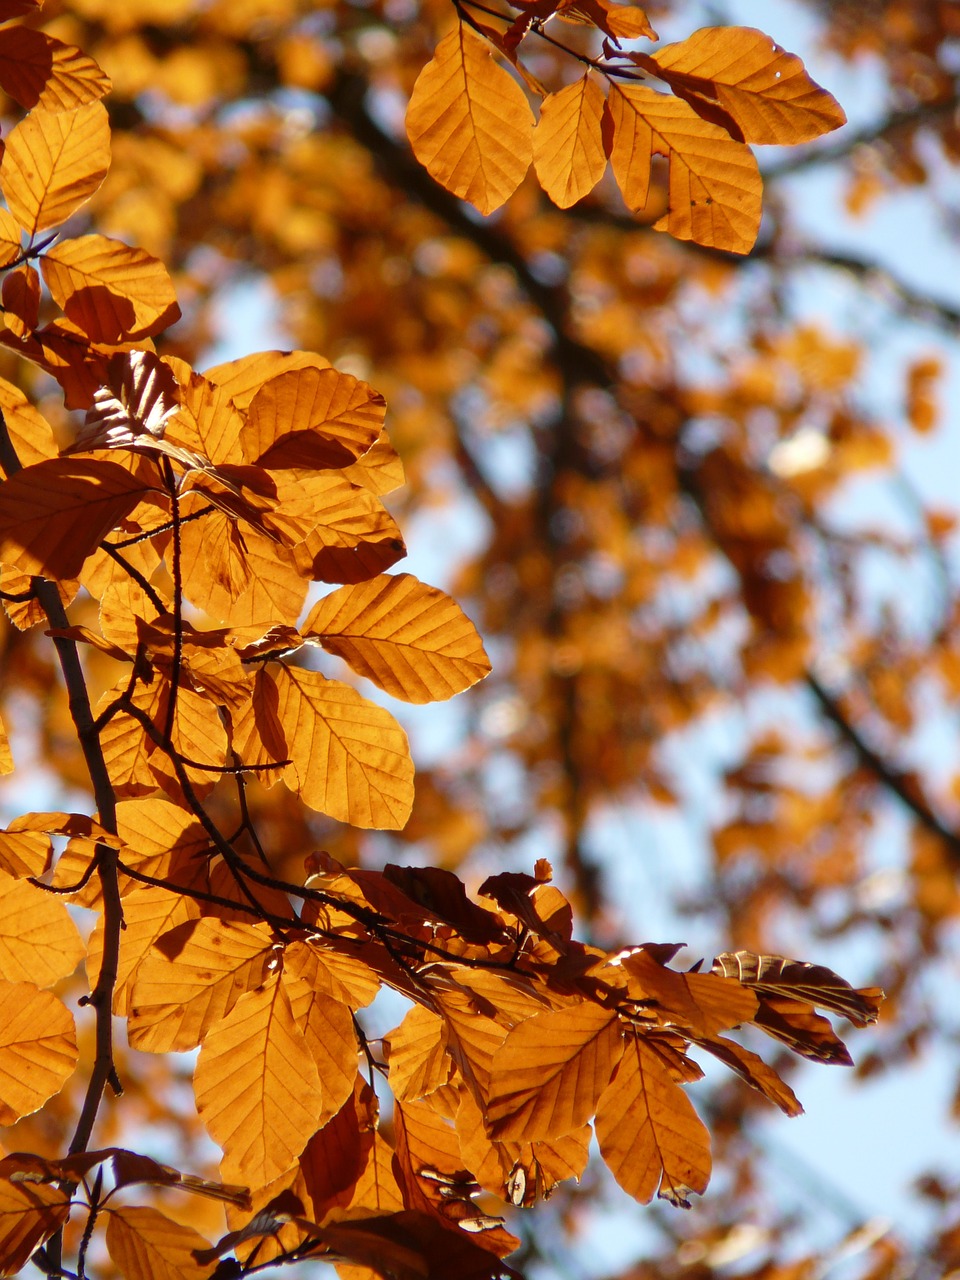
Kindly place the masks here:
[(596, 1139), (620, 1185), (689, 1208), (710, 1179), (710, 1135), (657, 1051), (631, 1036), (596, 1107)]

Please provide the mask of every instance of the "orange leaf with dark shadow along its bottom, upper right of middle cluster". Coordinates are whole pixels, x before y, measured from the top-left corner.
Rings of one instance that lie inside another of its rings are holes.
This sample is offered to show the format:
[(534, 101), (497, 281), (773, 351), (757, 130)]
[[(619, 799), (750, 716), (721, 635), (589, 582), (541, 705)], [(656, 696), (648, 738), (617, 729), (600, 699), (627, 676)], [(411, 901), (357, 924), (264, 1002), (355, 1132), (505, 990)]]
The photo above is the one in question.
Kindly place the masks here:
[(271, 470), (348, 466), (380, 435), (385, 412), (383, 396), (351, 374), (288, 370), (251, 401), (243, 451)]

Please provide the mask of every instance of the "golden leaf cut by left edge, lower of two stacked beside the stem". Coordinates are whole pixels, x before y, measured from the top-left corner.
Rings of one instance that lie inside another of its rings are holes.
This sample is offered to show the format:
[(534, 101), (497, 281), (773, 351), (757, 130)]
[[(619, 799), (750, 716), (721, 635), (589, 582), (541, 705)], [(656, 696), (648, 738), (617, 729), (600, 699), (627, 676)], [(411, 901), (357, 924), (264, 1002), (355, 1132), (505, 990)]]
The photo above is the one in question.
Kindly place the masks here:
[(0, 982), (0, 1124), (38, 1111), (77, 1066), (77, 1030), (63, 1001), (29, 982)]

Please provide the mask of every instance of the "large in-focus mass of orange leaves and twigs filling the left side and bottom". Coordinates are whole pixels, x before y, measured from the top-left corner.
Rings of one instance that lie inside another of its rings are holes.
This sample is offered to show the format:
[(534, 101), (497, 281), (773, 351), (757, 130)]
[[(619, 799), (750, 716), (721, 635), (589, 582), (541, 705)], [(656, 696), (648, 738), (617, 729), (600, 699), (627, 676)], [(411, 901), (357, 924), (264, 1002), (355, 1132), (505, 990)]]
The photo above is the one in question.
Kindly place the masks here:
[[(36, 8), (0, 0), (0, 19)], [(472, 35), (452, 38), (476, 61)], [(685, 56), (669, 64), (675, 88)], [(14, 627), (41, 627), (55, 649), (95, 806), (27, 813), (0, 833), (3, 1119), (55, 1103), (78, 1062), (84, 1076), (67, 1149), (0, 1162), (0, 1271), (35, 1256), (83, 1276), (105, 1225), (132, 1280), (305, 1257), (404, 1280), (515, 1275), (497, 1198), (529, 1206), (579, 1178), (590, 1120), (630, 1194), (689, 1204), (710, 1143), (682, 1088), (701, 1075), (687, 1050), (796, 1115), (780, 1074), (723, 1033), (753, 1024), (849, 1062), (815, 1009), (865, 1025), (879, 991), (751, 951), (701, 973), (671, 968), (676, 946), (585, 945), (543, 860), (488, 877), (476, 897), (440, 868), (348, 869), (306, 849), (301, 878), (274, 873), (250, 780), (360, 828), (402, 828), (413, 799), (399, 724), (311, 667), (310, 648), (411, 703), (466, 690), (486, 655), (448, 595), (385, 573), (404, 545), (381, 500), (402, 479), (384, 398), (305, 352), (204, 374), (157, 355), (151, 339), (178, 315), (161, 262), (59, 232), (108, 173), (108, 78), (79, 49), (8, 26), (0, 84), (28, 109), (0, 164), (0, 340), (83, 413), (58, 447), (0, 383), (0, 590)], [(685, 92), (703, 109), (703, 84)], [(334, 589), (303, 617), (311, 582)], [(95, 699), (93, 672), (110, 666)], [(97, 915), (87, 943), (68, 904)], [(81, 960), (90, 1055), (51, 989)], [(358, 1010), (384, 986), (412, 1009), (378, 1050)], [(114, 1015), (136, 1050), (198, 1050), (196, 1110), (227, 1183), (92, 1147), (104, 1096), (123, 1088)], [(224, 1201), (230, 1230), (211, 1245), (131, 1203), (145, 1187)]]

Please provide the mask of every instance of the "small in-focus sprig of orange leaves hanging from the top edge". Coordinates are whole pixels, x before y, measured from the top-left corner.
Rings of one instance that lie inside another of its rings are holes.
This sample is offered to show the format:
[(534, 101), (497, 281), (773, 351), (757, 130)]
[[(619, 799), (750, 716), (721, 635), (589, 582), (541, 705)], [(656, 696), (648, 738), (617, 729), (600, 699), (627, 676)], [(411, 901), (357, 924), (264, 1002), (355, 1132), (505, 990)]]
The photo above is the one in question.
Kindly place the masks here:
[[(567, 209), (594, 189), (608, 157), (627, 207), (641, 211), (650, 202), (653, 159), (662, 156), (667, 211), (654, 228), (745, 253), (760, 227), (763, 193), (746, 143), (809, 142), (846, 119), (799, 58), (750, 27), (704, 27), (652, 56), (621, 45), (657, 40), (636, 5), (530, 0), (504, 13), (465, 0), (456, 8), (457, 27), (413, 87), (407, 133), (429, 173), (484, 214), (513, 195), (531, 161), (550, 200)], [(486, 18), (508, 24), (492, 27)], [(567, 49), (545, 31), (552, 18), (593, 27), (603, 36), (602, 56)], [(524, 42), (536, 38), (586, 70), (548, 92), (522, 61)], [(522, 90), (488, 45), (543, 100), (536, 123)], [(652, 88), (648, 79), (666, 83), (672, 93)]]

